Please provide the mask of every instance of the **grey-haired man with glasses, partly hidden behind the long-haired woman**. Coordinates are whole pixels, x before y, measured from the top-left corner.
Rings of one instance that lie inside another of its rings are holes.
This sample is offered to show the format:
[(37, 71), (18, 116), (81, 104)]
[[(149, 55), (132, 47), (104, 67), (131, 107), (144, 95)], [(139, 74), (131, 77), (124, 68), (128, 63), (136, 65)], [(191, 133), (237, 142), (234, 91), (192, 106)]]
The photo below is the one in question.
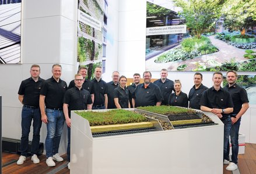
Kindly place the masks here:
[(118, 87), (120, 75), (118, 71), (112, 73), (112, 81), (107, 83), (107, 108), (117, 108), (114, 102), (114, 89)]

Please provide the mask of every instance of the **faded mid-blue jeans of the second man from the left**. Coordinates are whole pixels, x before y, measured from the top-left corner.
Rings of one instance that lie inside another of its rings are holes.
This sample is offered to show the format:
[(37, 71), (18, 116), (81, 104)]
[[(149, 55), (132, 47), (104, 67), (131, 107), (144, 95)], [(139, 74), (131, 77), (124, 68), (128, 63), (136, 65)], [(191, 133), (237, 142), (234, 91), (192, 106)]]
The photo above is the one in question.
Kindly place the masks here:
[(46, 108), (47, 115), (47, 136), (45, 139), (46, 158), (52, 157), (59, 151), (59, 142), (61, 142), (61, 134), (65, 117), (63, 111), (51, 110)]

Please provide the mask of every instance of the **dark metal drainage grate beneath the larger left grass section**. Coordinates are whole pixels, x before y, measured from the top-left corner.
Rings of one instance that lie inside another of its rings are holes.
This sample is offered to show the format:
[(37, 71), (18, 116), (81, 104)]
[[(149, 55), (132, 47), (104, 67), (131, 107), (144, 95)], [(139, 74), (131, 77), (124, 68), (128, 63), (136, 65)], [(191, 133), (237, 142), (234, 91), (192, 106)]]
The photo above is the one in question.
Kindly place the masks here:
[(93, 137), (103, 137), (103, 136), (113, 136), (113, 135), (126, 135), (131, 133), (142, 133), (142, 132), (151, 132), (156, 131), (156, 128), (143, 128), (143, 129), (129, 129), (122, 131), (110, 131), (110, 132), (99, 132), (93, 133)]

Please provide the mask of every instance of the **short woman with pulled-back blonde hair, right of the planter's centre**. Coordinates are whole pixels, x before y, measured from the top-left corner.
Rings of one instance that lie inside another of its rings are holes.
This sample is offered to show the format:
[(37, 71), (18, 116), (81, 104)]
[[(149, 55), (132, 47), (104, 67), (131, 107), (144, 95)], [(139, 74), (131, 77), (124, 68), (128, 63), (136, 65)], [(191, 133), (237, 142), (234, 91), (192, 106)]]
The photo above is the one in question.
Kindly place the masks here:
[(175, 92), (171, 93), (168, 104), (170, 106), (188, 107), (188, 95), (181, 92), (181, 82), (179, 79), (174, 81)]

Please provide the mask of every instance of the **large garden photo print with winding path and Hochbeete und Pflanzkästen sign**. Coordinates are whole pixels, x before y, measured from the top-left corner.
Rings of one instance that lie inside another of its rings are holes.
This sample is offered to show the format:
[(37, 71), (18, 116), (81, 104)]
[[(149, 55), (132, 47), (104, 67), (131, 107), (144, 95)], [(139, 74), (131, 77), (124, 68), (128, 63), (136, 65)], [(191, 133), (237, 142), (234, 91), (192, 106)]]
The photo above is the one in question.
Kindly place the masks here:
[(146, 70), (255, 71), (255, 0), (148, 0)]

